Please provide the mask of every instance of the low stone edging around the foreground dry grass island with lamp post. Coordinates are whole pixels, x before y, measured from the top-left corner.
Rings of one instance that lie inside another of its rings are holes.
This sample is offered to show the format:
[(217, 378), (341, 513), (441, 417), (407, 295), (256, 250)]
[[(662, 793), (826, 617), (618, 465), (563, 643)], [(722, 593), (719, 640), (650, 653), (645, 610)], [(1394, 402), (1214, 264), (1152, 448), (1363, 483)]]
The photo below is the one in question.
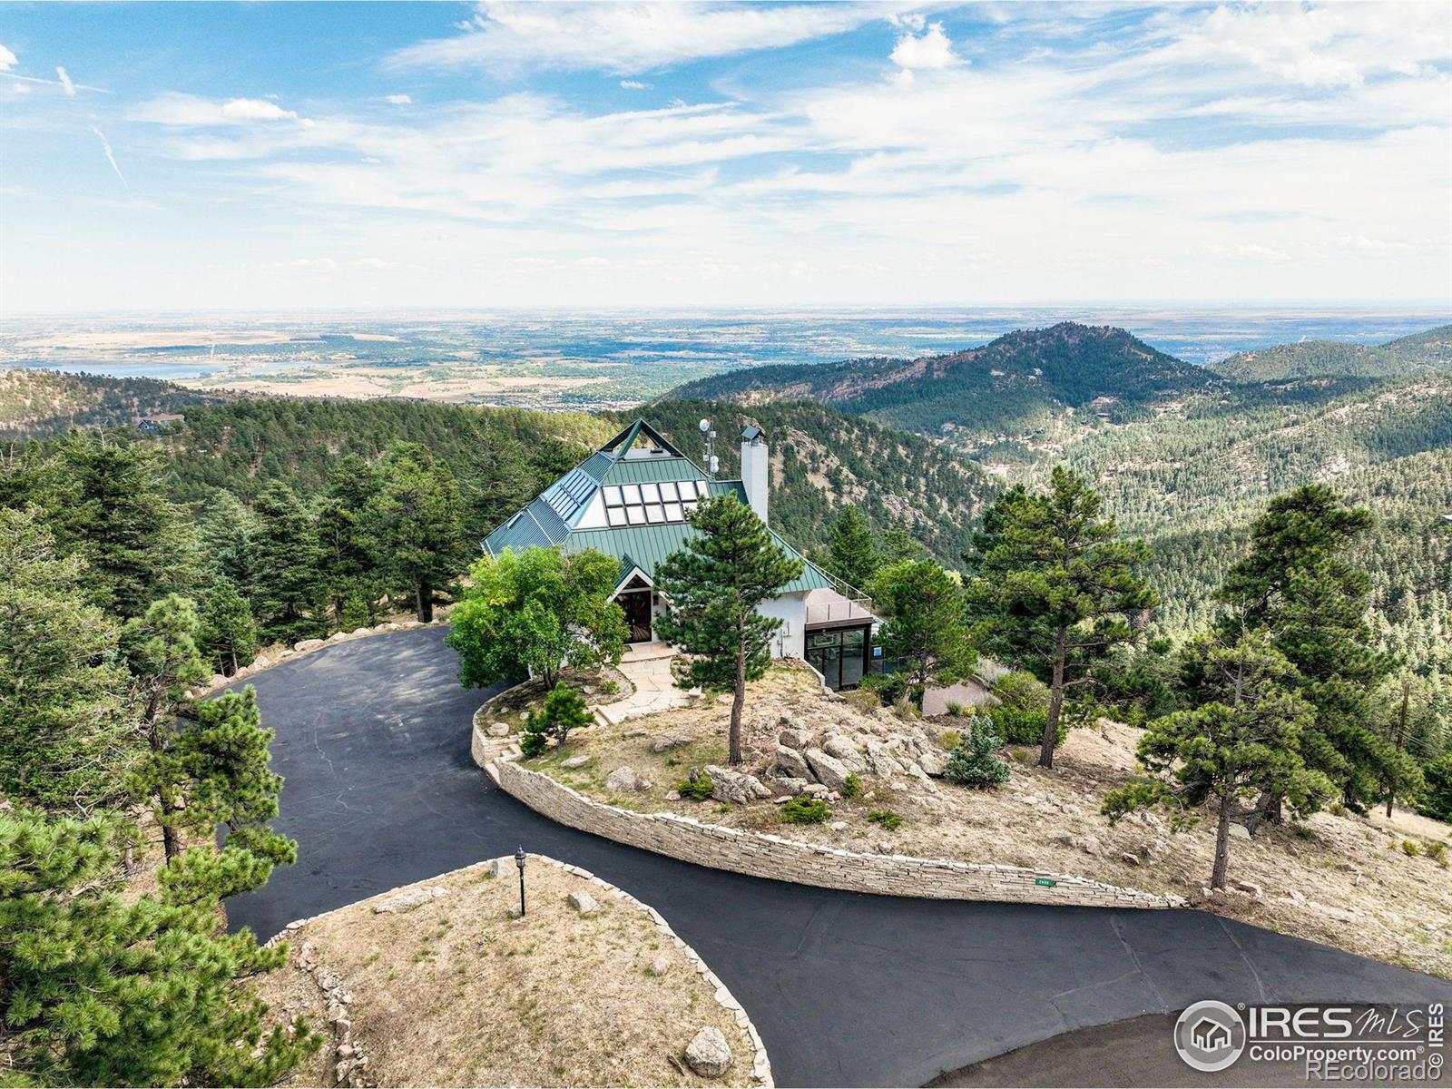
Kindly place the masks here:
[[(494, 739), (491, 738), (489, 741)], [(759, 1085), (761, 1089), (775, 1089), (775, 1082), (771, 1077), (771, 1059), (767, 1056), (767, 1045), (761, 1043), (761, 1034), (756, 1032), (756, 1027), (752, 1024), (751, 1016), (748, 1016), (746, 1011), (730, 993), (726, 984), (722, 983), (720, 979), (716, 976), (716, 973), (710, 970), (710, 966), (701, 958), (701, 954), (698, 954), (696, 950), (687, 945), (685, 939), (671, 929), (671, 923), (665, 921), (665, 916), (661, 915), (661, 912), (658, 912), (655, 908), (645, 903), (643, 900), (637, 900), (624, 889), (620, 889), (614, 884), (610, 884), (610, 881), (595, 877), (592, 873), (590, 873), (590, 870), (584, 870), (578, 865), (571, 865), (569, 862), (562, 862), (558, 858), (550, 858), (549, 855), (537, 855), (531, 852), (527, 857), (534, 861), (547, 862), (549, 865), (565, 870), (566, 873), (575, 874), (576, 877), (585, 881), (591, 881), (597, 889), (600, 889), (603, 894), (613, 896), (621, 903), (626, 903), (630, 908), (636, 908), (637, 910), (642, 910), (646, 915), (649, 915), (650, 921), (655, 923), (655, 929), (661, 934), (661, 937), (669, 941), (672, 945), (675, 945), (675, 948), (681, 951), (681, 955), (685, 958), (685, 963), (690, 964), (691, 968), (696, 971), (696, 974), (700, 976), (701, 980), (714, 990), (713, 998), (716, 999), (716, 1003), (732, 1015), (736, 1024), (742, 1028), (742, 1031), (745, 1031), (746, 1037), (751, 1040), (752, 1080), (756, 1085)], [(465, 865), (459, 870), (453, 870), (450, 874), (440, 874), (440, 877), (468, 873), (469, 870), (489, 870), (495, 877), (499, 877), (501, 874), (505, 876), (513, 874), (514, 867), (515, 867), (514, 855), (501, 855), (499, 858), (486, 858), (482, 862), (475, 862), (473, 865)], [(412, 886), (409, 884), (402, 884), (398, 886), (396, 889), (389, 889), (388, 892), (378, 893), (376, 896), (369, 896), (366, 900), (357, 900), (354, 903), (344, 905), (343, 908), (334, 908), (331, 912), (322, 912), (321, 915), (314, 915), (308, 919), (296, 919), (295, 922), (289, 922), (280, 932), (274, 934), (263, 944), (267, 948), (273, 948), (277, 944), (293, 938), (296, 935), (296, 931), (301, 931), (309, 922), (325, 919), (327, 916), (335, 912), (346, 910), (347, 908), (356, 908), (360, 903), (369, 903), (372, 900), (383, 900), (389, 896), (393, 896), (395, 893), (402, 892), (404, 889), (411, 889), (411, 887)], [(306, 944), (303, 945), (302, 955), (311, 958), (311, 950), (306, 947)], [(302, 967), (301, 963), (299, 967)], [(331, 1003), (337, 1002), (340, 996), (346, 996), (347, 1002), (351, 1002), (351, 995), (348, 995), (344, 990), (346, 982), (338, 979), (334, 973), (328, 971), (327, 968), (318, 964), (314, 964), (305, 970), (317, 980), (318, 986), (322, 989), (324, 996), (330, 1003), (330, 1009)], [(347, 1005), (347, 1002), (344, 1002), (344, 1006)], [(363, 1057), (362, 1054), (360, 1041), (351, 1035), (353, 1022), (347, 1018), (347, 1011), (344, 1009), (337, 1018), (334, 1018), (330, 1013), (330, 1022), (333, 1024), (335, 1045), (338, 1048), (347, 1047), (348, 1048), (347, 1056), (354, 1056), (356, 1050), (356, 1057), (344, 1059), (343, 1061), (338, 1063), (337, 1083), (348, 1086), (376, 1085), (376, 1082), (364, 1073), (364, 1067), (367, 1066), (367, 1059)]]

